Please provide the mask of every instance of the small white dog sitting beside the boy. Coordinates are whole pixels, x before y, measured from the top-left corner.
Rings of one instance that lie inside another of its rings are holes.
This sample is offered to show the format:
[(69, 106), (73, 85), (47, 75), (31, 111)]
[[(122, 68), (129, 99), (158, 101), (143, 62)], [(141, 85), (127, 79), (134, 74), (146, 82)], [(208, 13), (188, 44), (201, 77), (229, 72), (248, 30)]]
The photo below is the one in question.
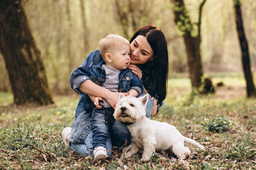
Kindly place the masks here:
[(120, 93), (114, 117), (116, 120), (130, 122), (128, 128), (131, 133), (131, 144), (124, 152), (128, 158), (136, 154), (139, 149), (144, 149), (142, 160), (147, 161), (155, 150), (170, 150), (178, 158), (184, 159), (190, 150), (184, 147), (184, 142), (204, 149), (196, 141), (184, 137), (170, 124), (154, 121), (146, 117), (146, 104), (148, 95), (143, 97), (125, 97)]

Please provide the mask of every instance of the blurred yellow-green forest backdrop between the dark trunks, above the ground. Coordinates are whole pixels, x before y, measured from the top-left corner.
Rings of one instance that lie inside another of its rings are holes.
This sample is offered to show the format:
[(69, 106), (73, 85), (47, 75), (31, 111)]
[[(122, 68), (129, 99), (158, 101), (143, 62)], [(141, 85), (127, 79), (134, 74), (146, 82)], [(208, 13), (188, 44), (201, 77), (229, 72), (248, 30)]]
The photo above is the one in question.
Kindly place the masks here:
[[(155, 24), (168, 40), (169, 76), (189, 76), (182, 33), (170, 0), (24, 0), (23, 8), (53, 94), (73, 93), (70, 73), (110, 33), (128, 40), (141, 26)], [(184, 0), (192, 23), (200, 0)], [(256, 71), (256, 1), (241, 0), (252, 72)], [(233, 0), (207, 0), (202, 9), (201, 59), (204, 73), (243, 72)], [(11, 91), (0, 54), (0, 91)]]

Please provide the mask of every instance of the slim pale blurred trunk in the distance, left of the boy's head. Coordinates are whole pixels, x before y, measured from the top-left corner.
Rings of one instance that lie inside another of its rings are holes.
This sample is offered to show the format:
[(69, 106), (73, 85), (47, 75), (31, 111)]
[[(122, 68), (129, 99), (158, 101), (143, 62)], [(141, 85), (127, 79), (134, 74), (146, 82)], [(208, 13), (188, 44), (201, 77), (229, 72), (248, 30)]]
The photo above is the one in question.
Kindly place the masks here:
[(88, 47), (88, 29), (86, 25), (86, 17), (85, 17), (85, 6), (84, 6), (84, 0), (80, 0), (80, 6), (81, 6), (81, 19), (82, 19), (82, 25), (83, 25), (83, 52), (84, 55), (87, 53), (89, 47)]

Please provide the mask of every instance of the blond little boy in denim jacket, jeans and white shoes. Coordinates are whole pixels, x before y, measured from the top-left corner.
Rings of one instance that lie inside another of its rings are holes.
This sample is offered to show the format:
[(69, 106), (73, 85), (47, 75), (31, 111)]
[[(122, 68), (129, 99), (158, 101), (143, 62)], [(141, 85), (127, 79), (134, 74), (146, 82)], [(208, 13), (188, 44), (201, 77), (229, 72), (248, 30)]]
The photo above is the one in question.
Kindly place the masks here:
[[(90, 80), (113, 92), (128, 92), (134, 97), (140, 95), (143, 91), (141, 81), (128, 68), (130, 64), (129, 41), (119, 35), (110, 34), (99, 41), (99, 50), (103, 61), (92, 67), (89, 72)], [(120, 122), (114, 119), (114, 109), (105, 99), (95, 96), (90, 96), (90, 99), (93, 102), (88, 101), (86, 104), (88, 104), (87, 111), (93, 108), (90, 120), (93, 132), (93, 155), (94, 160), (99, 160), (108, 157), (106, 139), (110, 130), (115, 133), (115, 124)], [(124, 144), (125, 139), (117, 139), (119, 147)]]

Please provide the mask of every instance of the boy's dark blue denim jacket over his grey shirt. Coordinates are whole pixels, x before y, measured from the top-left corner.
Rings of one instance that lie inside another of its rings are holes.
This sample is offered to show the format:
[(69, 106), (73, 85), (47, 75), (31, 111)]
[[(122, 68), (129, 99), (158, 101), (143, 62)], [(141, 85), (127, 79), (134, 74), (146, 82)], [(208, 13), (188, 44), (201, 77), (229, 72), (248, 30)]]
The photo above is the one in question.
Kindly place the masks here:
[[(102, 68), (102, 64), (106, 64), (103, 60), (97, 64), (96, 66), (93, 66), (92, 69), (89, 71), (89, 77), (92, 82), (95, 84), (98, 84), (99, 86), (102, 86), (102, 84), (106, 81), (106, 71), (104, 68)], [(118, 85), (118, 91), (119, 92), (128, 92), (130, 89), (134, 89), (138, 92), (138, 95), (140, 95), (143, 91), (143, 86), (139, 80), (139, 77), (131, 72), (129, 68), (126, 68), (124, 70), (121, 70), (121, 72), (118, 75), (119, 77), (119, 85)], [(94, 103), (90, 99), (90, 97), (85, 94), (83, 95), (83, 98), (80, 99), (80, 102), (83, 103), (83, 109), (86, 112), (91, 112), (93, 108), (95, 108)]]

